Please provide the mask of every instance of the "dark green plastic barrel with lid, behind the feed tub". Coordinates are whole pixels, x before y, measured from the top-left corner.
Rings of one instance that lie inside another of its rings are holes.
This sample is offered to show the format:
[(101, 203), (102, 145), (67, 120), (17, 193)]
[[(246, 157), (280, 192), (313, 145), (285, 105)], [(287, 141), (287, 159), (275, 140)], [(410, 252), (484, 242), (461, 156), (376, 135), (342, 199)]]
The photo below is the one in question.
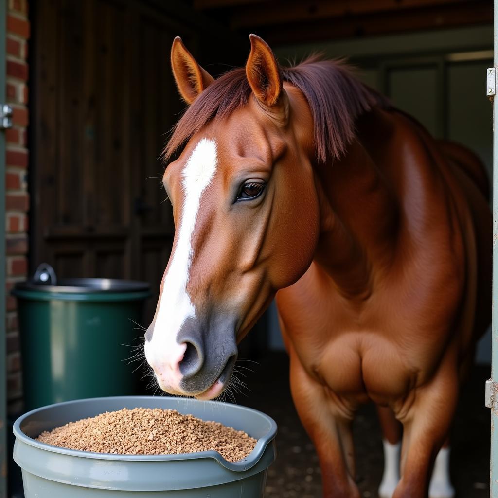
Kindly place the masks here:
[(57, 285), (18, 283), (26, 410), (96, 396), (138, 393), (140, 372), (127, 358), (150, 296), (144, 282), (72, 278)]

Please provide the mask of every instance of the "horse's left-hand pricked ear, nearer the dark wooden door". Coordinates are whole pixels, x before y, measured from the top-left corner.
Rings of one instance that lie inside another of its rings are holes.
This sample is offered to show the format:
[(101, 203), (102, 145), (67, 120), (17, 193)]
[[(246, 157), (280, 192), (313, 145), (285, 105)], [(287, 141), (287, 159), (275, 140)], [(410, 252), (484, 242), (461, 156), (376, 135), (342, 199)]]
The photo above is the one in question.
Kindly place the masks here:
[(206, 70), (199, 66), (179, 36), (173, 40), (171, 47), (171, 69), (178, 91), (189, 105), (215, 81)]

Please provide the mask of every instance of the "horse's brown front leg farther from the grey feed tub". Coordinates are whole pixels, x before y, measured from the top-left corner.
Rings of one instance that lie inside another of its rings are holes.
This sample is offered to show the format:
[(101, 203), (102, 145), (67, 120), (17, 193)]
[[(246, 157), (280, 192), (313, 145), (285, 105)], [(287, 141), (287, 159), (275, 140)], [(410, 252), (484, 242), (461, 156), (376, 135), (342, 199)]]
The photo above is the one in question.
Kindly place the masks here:
[(439, 368), (430, 383), (412, 393), (410, 408), (400, 416), (401, 479), (393, 498), (429, 496), (434, 460), (448, 437), (458, 398), (458, 375), (454, 365), (448, 363)]

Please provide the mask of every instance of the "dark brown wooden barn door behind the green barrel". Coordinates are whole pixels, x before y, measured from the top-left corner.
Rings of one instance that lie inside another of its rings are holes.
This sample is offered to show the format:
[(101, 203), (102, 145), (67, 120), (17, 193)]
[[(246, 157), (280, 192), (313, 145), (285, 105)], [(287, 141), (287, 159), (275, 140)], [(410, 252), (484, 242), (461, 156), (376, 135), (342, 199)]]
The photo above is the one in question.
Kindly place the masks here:
[(157, 292), (174, 229), (159, 155), (181, 111), (169, 49), (177, 34), (194, 50), (197, 39), (130, 0), (34, 8), (31, 269)]

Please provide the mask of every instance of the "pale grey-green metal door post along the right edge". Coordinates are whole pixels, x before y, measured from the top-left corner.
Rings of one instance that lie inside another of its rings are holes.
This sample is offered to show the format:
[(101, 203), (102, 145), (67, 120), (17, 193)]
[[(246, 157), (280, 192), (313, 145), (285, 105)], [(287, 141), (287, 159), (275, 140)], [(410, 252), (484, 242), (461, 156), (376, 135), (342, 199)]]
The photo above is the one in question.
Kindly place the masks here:
[[(498, 66), (498, 0), (494, 0), (494, 59), (496, 70)], [(495, 79), (496, 83), (496, 79)], [(489, 86), (489, 85), (488, 85)], [(490, 94), (489, 88), (487, 93)], [(490, 97), (493, 103), (493, 305), (492, 305), (492, 361), (491, 378), (493, 386), (498, 383), (498, 106), (494, 105), (494, 96)], [(495, 389), (493, 389), (494, 391)], [(493, 393), (495, 394), (495, 393)], [(496, 399), (496, 396), (494, 396)], [(498, 409), (497, 403), (491, 407), (491, 472), (490, 497), (498, 498)]]

